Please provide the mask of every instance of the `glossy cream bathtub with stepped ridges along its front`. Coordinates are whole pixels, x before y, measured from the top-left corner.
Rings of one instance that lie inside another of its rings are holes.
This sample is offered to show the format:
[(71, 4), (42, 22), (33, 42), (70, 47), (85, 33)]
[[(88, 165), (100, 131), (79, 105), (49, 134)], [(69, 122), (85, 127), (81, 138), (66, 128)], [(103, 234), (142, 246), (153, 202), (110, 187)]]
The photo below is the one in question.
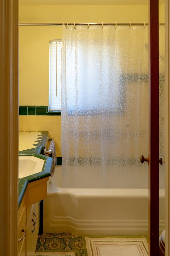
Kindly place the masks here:
[[(159, 190), (159, 233), (165, 229), (165, 190)], [(77, 236), (148, 235), (148, 189), (62, 188), (56, 166), (44, 199), (43, 232)]]

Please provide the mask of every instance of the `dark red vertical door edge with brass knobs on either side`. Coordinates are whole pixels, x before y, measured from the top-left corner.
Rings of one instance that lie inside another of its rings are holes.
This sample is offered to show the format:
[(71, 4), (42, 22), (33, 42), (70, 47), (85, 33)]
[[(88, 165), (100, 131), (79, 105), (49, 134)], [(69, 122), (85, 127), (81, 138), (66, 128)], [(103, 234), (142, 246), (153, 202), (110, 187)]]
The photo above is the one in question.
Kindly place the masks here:
[(159, 255), (159, 1), (149, 1), (149, 255)]

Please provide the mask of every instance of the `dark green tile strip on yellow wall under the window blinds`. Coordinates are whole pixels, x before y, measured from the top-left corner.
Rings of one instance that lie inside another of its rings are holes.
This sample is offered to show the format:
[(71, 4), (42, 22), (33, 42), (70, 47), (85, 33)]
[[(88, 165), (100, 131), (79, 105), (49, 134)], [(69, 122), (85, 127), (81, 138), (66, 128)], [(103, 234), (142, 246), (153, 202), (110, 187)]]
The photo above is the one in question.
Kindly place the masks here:
[(19, 115), (61, 115), (61, 111), (48, 111), (48, 106), (19, 106)]

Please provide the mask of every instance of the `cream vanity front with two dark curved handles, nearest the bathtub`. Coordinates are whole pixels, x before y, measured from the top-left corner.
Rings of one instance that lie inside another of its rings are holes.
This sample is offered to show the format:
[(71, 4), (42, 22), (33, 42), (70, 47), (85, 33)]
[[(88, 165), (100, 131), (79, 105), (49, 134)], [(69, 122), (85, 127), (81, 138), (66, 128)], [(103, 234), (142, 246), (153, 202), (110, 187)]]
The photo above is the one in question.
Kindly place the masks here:
[(38, 203), (27, 207), (26, 251), (27, 256), (34, 256), (37, 243)]

